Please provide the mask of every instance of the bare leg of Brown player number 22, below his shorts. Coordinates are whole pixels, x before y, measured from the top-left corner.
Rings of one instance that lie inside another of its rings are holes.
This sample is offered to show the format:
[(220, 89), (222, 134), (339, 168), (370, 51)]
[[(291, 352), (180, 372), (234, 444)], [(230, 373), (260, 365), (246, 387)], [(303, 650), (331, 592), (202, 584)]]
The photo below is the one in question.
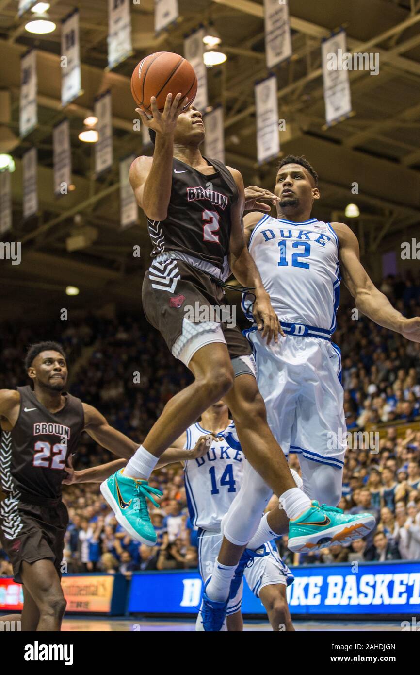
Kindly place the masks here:
[[(60, 578), (52, 560), (22, 562), (20, 569), (24, 589), (28, 592), (39, 612), (36, 630), (59, 631), (63, 620), (66, 600), (61, 588)], [(34, 618), (34, 608), (29, 604), (30, 614)], [(32, 612), (31, 612), (32, 609)], [(28, 622), (31, 616), (28, 616)]]

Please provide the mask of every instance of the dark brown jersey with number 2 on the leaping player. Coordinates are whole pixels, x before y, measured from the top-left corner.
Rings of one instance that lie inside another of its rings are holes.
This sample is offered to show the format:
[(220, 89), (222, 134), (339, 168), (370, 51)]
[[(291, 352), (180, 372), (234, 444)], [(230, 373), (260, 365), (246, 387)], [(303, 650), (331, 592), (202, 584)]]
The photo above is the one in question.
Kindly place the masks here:
[(183, 252), (222, 271), (231, 236), (231, 207), (237, 202), (238, 190), (224, 164), (216, 159), (206, 161), (216, 169), (210, 175), (173, 159), (167, 218), (148, 218), (151, 255), (156, 258), (168, 251)]

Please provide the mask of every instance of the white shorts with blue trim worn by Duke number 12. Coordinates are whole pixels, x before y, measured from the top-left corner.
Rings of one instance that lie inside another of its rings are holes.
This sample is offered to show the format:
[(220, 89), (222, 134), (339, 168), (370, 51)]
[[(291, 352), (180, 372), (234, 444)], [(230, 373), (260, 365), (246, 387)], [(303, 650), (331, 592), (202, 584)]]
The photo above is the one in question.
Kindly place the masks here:
[(278, 343), (268, 346), (256, 329), (245, 335), (253, 347), (268, 425), (284, 454), (342, 469), (347, 428), (338, 347), (298, 335), (279, 335)]

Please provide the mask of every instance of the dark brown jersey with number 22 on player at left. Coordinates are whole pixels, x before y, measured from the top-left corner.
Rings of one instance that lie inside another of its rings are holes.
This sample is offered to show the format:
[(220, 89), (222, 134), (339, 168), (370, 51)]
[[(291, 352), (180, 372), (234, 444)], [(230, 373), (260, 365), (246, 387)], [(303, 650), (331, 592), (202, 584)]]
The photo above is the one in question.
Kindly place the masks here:
[(84, 429), (80, 399), (63, 395), (65, 406), (49, 412), (30, 386), (18, 387), (20, 412), (11, 431), (3, 431), (0, 443), (0, 487), (5, 492), (34, 497), (35, 503), (61, 497), (61, 482), (69, 454), (76, 452)]

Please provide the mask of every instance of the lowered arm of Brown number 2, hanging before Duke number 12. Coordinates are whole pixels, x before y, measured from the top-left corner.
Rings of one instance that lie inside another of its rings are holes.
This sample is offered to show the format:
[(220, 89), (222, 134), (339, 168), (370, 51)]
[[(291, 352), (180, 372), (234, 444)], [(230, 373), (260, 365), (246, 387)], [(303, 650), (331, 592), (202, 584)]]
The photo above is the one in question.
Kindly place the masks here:
[(266, 292), (260, 273), (254, 263), (249, 250), (245, 244), (243, 233), (243, 206), (245, 203), (245, 190), (243, 188), (243, 179), (241, 173), (236, 169), (227, 167), (238, 188), (238, 200), (231, 208), (231, 239), (229, 242), (229, 265), (240, 284), (249, 288), (254, 288), (253, 293), (256, 300), (253, 303), (252, 313), (256, 320), (258, 330), (262, 331), (262, 337), (267, 338), (267, 344), (270, 344), (272, 338), (274, 342), (278, 341), (278, 333), (284, 335), (278, 318), (272, 304), (270, 296)]

